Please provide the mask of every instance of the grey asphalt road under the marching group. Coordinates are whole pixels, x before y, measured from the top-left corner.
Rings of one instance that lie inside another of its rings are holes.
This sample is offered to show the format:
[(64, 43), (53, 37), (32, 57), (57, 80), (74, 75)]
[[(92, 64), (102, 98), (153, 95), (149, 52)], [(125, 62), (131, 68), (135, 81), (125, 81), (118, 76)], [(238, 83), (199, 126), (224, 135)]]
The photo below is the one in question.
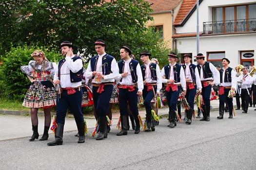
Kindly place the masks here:
[[(116, 136), (113, 127), (105, 140), (86, 136), (78, 144), (77, 131), (64, 133), (63, 145), (50, 147), (48, 141), (29, 142), (28, 137), (0, 141), (0, 170), (255, 170), (256, 111), (236, 111), (234, 119), (194, 119), (167, 127), (160, 119), (156, 132), (129, 131)], [(0, 117), (1, 118), (1, 117)], [(93, 129), (89, 129), (89, 134)]]

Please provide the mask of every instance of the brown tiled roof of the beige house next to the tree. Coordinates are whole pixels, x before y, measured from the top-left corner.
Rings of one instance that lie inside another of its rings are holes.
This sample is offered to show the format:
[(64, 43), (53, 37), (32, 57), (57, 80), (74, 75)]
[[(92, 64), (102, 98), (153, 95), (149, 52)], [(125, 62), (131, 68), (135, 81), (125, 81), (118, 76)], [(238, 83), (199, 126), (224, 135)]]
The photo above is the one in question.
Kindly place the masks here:
[(166, 12), (173, 10), (181, 0), (146, 0), (154, 12)]

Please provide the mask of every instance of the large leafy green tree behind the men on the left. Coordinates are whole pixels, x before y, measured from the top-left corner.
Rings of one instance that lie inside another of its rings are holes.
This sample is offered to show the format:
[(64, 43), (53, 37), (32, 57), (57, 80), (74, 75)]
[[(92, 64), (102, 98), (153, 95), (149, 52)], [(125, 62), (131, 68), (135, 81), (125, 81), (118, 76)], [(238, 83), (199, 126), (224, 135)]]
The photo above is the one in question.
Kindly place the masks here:
[(144, 46), (147, 41), (136, 39), (152, 19), (144, 0), (8, 0), (0, 2), (0, 12), (1, 52), (11, 43), (57, 49), (70, 40), (85, 56), (95, 53), (93, 44), (99, 38), (114, 54), (123, 44)]

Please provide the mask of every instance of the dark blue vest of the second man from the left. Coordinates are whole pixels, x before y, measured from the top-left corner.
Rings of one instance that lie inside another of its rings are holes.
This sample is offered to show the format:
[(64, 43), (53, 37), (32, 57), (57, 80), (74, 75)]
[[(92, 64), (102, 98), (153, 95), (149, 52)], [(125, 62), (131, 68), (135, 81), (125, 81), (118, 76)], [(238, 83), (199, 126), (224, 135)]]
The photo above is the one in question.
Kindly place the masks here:
[[(103, 75), (108, 75), (108, 74), (112, 73), (111, 63), (112, 63), (113, 59), (114, 59), (114, 57), (109, 54), (106, 54), (102, 57), (102, 74)], [(92, 71), (96, 71), (97, 61), (98, 61), (98, 55), (91, 58)]]

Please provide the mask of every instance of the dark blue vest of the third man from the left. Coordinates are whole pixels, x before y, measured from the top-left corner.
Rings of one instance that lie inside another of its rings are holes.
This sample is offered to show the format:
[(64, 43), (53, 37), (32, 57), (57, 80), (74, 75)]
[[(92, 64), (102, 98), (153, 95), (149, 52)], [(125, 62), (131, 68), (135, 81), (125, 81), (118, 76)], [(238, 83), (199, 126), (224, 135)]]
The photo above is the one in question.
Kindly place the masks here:
[[(138, 75), (137, 75), (137, 66), (138, 66), (138, 61), (135, 59), (132, 59), (131, 62), (129, 63), (129, 68), (130, 68), (130, 72), (131, 72), (131, 76), (133, 79), (133, 83), (137, 83), (138, 82)], [(124, 69), (124, 61), (120, 60), (118, 62), (118, 68), (119, 68), (119, 74), (123, 73), (123, 69)], [(122, 82), (122, 79), (120, 80), (120, 82)]]

